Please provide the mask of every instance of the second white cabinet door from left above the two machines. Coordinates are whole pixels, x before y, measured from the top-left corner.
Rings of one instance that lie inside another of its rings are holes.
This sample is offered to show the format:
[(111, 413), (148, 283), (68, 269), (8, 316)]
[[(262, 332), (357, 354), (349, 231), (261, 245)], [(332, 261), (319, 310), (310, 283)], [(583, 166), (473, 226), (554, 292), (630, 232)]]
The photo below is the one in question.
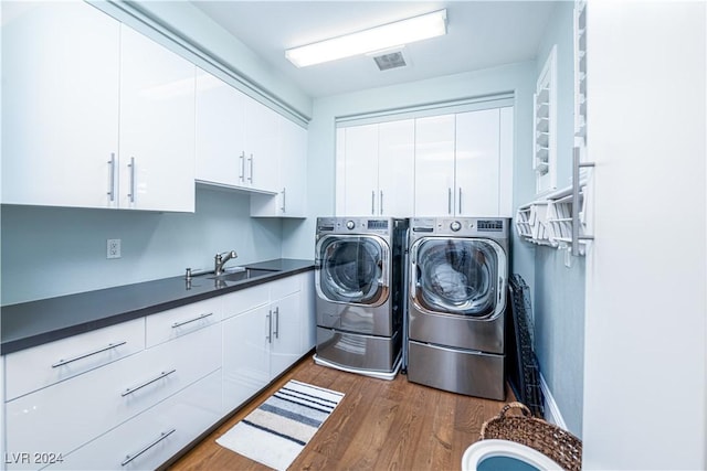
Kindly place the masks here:
[(378, 212), (409, 217), (414, 208), (415, 121), (378, 126)]

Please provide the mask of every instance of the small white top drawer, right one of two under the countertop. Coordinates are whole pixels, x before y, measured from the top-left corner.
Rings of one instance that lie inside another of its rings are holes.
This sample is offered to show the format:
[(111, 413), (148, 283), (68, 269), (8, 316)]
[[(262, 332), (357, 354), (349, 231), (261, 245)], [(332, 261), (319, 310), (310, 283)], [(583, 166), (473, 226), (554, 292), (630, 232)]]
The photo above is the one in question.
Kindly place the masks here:
[(222, 300), (218, 297), (148, 315), (146, 319), (146, 346), (149, 349), (219, 323), (221, 321), (221, 306)]

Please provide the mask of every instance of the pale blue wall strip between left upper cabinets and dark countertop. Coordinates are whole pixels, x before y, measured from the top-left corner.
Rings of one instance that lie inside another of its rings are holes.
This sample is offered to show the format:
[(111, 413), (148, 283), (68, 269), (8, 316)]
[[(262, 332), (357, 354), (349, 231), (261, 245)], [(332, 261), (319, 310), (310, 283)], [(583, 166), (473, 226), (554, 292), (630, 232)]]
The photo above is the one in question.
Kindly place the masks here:
[[(2, 205), (2, 306), (281, 257), (279, 220), (250, 217), (250, 196), (197, 189), (196, 213)], [(123, 257), (106, 259), (106, 239)], [(309, 257), (312, 258), (312, 257)]]

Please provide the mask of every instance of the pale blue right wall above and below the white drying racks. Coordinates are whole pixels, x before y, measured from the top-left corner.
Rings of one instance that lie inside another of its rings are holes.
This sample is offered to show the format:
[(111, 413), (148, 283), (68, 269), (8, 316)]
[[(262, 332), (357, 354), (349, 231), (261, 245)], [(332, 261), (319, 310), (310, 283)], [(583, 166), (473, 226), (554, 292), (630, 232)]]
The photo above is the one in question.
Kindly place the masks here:
[[(558, 2), (538, 50), (536, 78), (557, 45), (557, 183), (571, 184), (574, 144), (574, 2)], [(528, 142), (528, 146), (531, 146)], [(530, 169), (527, 169), (531, 172)], [(532, 176), (530, 176), (532, 178)], [(535, 249), (536, 353), (540, 371), (567, 428), (582, 435), (584, 357), (584, 258), (567, 267), (567, 250)]]

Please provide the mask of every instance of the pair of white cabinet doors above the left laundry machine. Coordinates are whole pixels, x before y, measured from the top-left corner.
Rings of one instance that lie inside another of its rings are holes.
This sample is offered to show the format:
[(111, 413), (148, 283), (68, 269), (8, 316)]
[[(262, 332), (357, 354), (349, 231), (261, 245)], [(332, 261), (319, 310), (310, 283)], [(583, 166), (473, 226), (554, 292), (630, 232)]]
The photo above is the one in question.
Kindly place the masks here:
[(337, 131), (337, 214), (409, 216), (413, 202), (414, 120)]

